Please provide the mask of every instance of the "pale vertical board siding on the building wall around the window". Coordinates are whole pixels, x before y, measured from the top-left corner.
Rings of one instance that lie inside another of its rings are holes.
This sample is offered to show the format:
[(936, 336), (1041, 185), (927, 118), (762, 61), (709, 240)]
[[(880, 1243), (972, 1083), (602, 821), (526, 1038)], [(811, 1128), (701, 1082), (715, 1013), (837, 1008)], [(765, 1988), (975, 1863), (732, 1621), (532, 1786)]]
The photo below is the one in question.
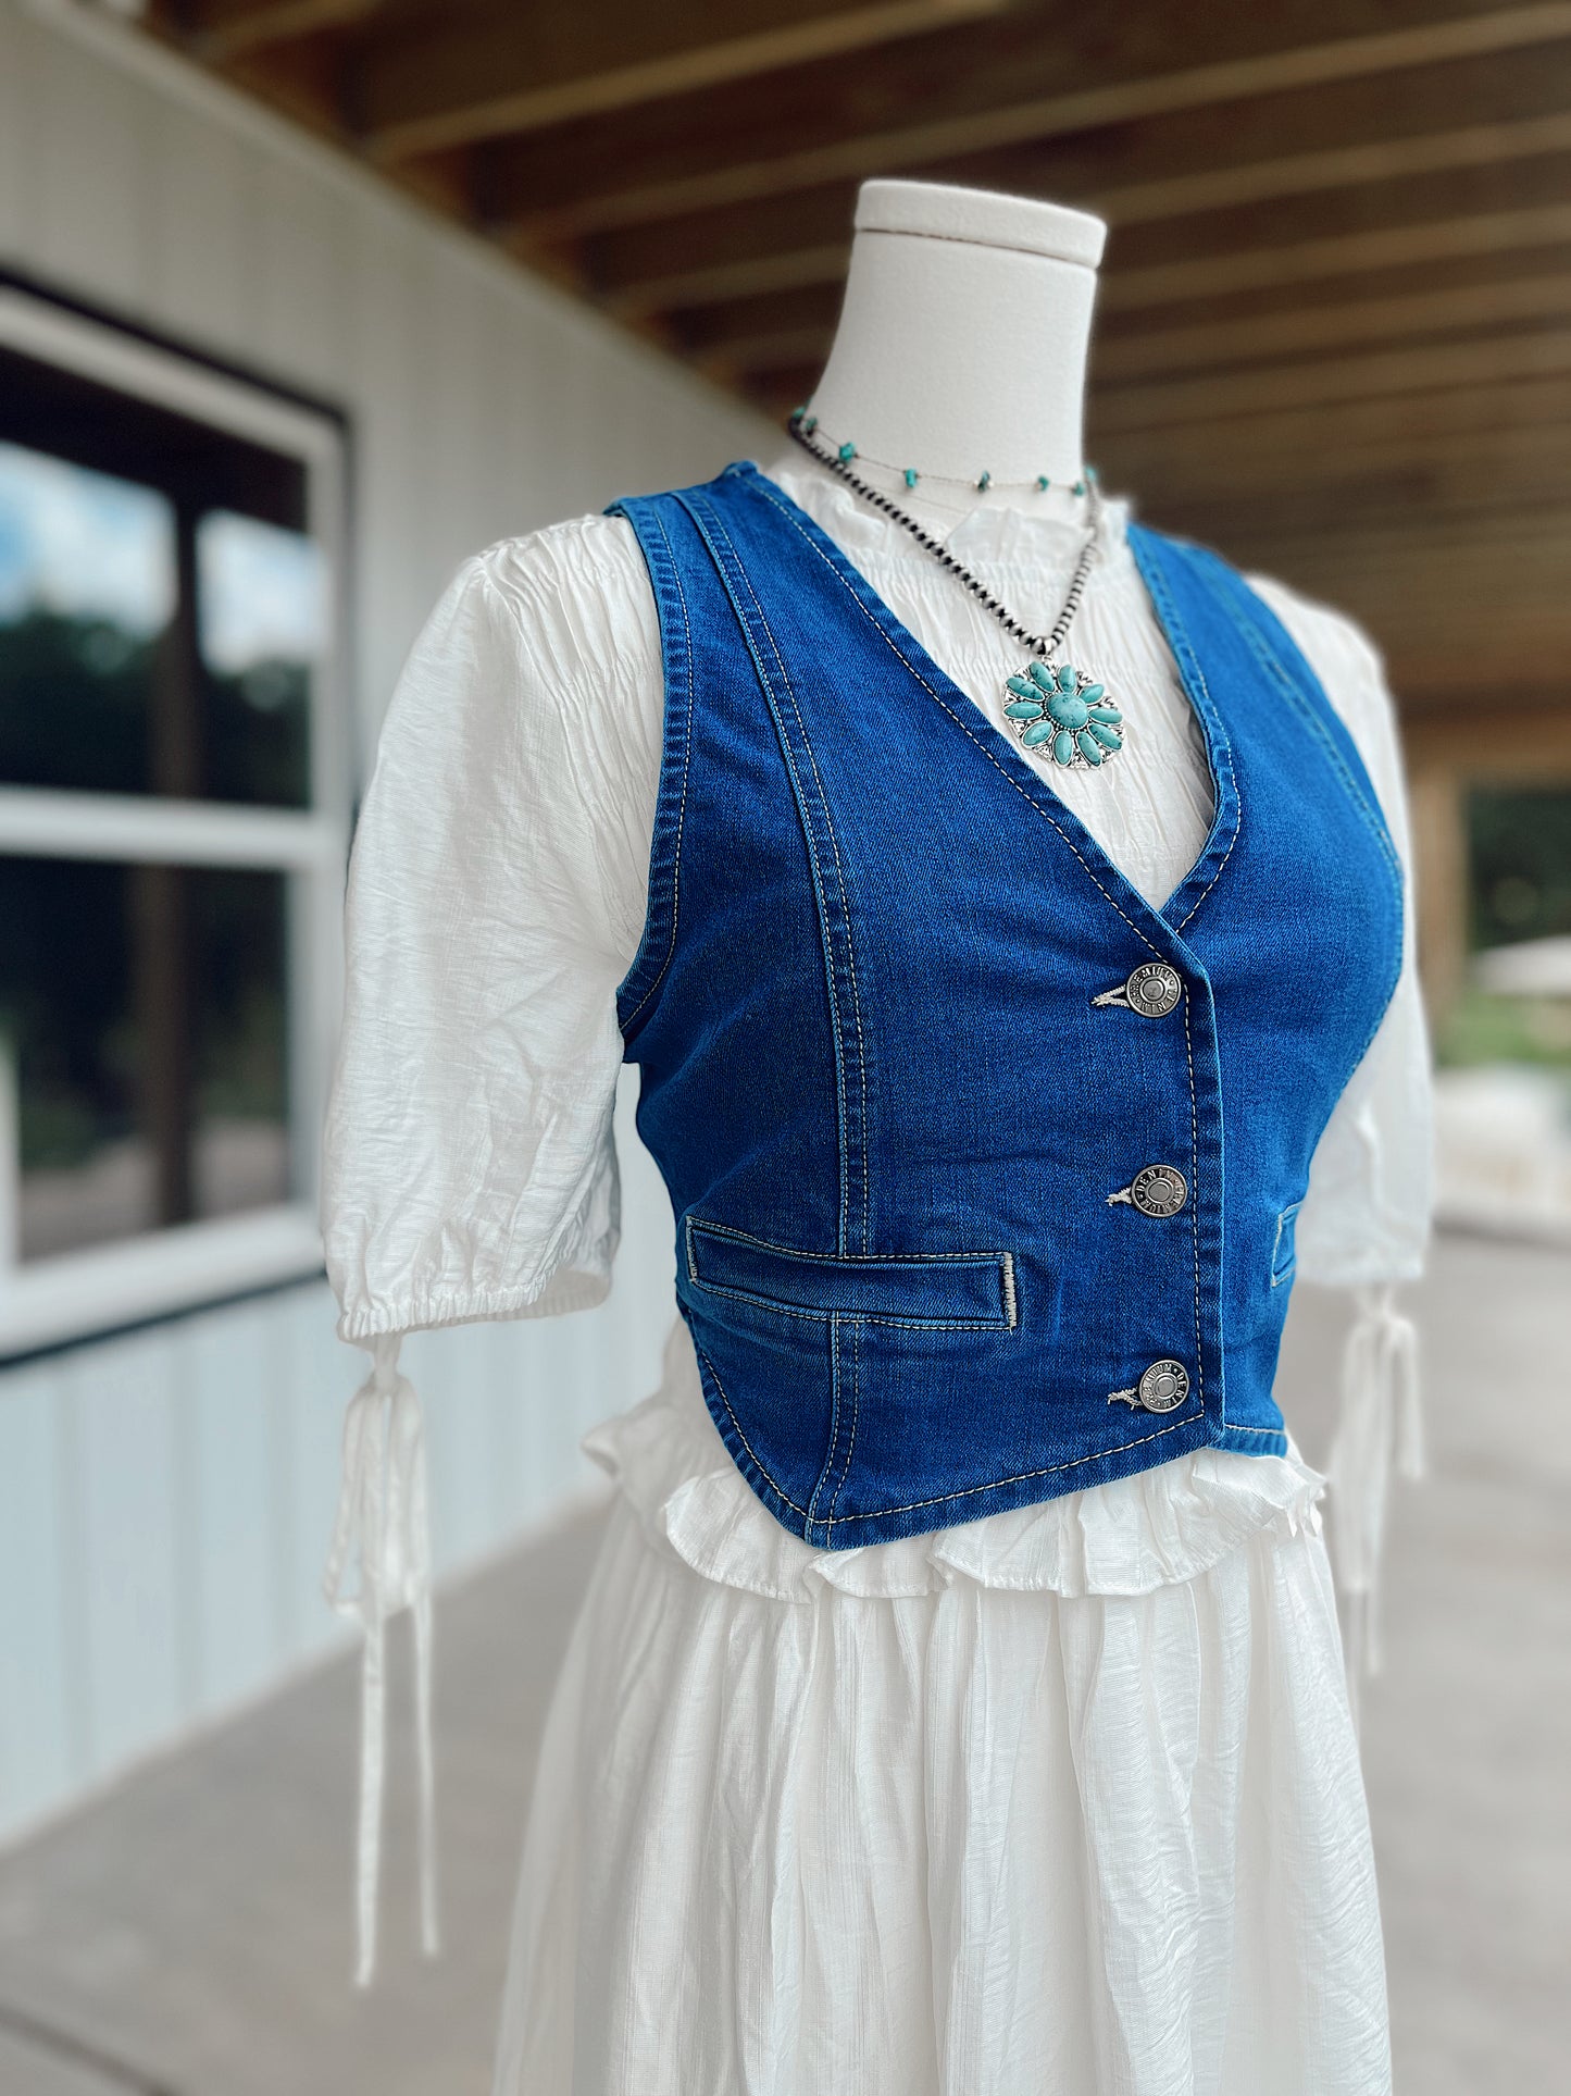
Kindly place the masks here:
[[(341, 405), (360, 769), (452, 568), (769, 432), (358, 172), (191, 105), (0, 0), (0, 258)], [(582, 1484), (654, 1383), (670, 1216), (618, 1107), (624, 1241), (595, 1312), (421, 1333), (444, 1568)], [(337, 1635), (320, 1559), (364, 1356), (323, 1283), (0, 1371), (0, 1836)]]

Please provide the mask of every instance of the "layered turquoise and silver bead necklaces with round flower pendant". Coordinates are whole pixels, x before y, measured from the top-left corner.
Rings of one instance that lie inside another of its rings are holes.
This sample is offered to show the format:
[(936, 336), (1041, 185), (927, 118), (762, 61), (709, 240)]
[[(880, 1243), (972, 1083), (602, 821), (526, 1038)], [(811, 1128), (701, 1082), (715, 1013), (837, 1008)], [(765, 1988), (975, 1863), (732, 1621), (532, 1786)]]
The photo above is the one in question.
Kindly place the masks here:
[[(976, 602), (993, 612), (1005, 633), (1031, 648), (1033, 660), (1026, 662), (1018, 677), (1005, 679), (1003, 700), (1003, 717), (1024, 748), (1041, 750), (1064, 771), (1096, 771), (1110, 757), (1119, 755), (1123, 748), (1123, 713), (1108, 700), (1106, 687), (1091, 677), (1089, 671), (1077, 669), (1072, 662), (1054, 662), (1054, 656), (1068, 639), (1075, 612), (1081, 608), (1081, 597), (1085, 595), (1091, 564), (1096, 562), (1102, 545), (1102, 490), (1098, 488), (1096, 474), (1089, 465), (1085, 470), (1085, 478), (1075, 482), (1075, 493), (1085, 495), (1087, 501), (1089, 532), (1085, 547), (1081, 549), (1081, 558), (1075, 564), (1064, 608), (1054, 620), (1049, 633), (1031, 633), (1031, 629), (1024, 627), (1014, 612), (999, 604), (999, 599), (970, 572), (970, 568), (964, 568), (955, 560), (941, 539), (934, 539), (932, 532), (924, 530), (915, 518), (907, 516), (905, 509), (892, 503), (888, 495), (880, 495), (880, 490), (869, 486), (861, 474), (850, 470), (850, 461), (857, 457), (855, 444), (832, 444), (827, 438), (825, 442), (817, 442), (819, 419), (817, 415), (809, 415), (804, 407), (794, 409), (785, 428), (802, 451), (815, 457), (819, 465), (827, 465), (829, 472), (838, 474), (848, 488), (863, 497), (863, 501), (905, 526), (917, 545), (926, 547), (934, 560), (943, 562), (943, 566), (949, 568), (949, 572), (964, 583), (966, 589), (970, 589)], [(873, 459), (871, 463), (880, 461)], [(907, 488), (913, 488), (922, 478), (911, 465), (890, 467), (890, 472), (901, 472)], [(930, 474), (928, 478), (941, 480), (945, 476)], [(982, 493), (991, 486), (1003, 484), (1005, 482), (995, 482), (991, 474), (982, 474), (976, 482), (968, 482), (968, 486), (976, 486)], [(1039, 474), (1035, 482), (1020, 482), (1020, 486), (1037, 486), (1045, 493), (1049, 480), (1045, 474)]]

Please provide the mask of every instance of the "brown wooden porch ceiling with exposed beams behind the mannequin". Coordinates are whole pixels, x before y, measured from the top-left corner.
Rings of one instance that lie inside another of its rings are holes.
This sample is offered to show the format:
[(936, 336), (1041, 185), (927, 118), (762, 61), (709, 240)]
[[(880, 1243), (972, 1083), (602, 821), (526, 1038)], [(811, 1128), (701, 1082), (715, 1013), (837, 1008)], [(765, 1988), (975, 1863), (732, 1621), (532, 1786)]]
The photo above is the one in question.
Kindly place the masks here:
[(775, 415), (825, 354), (865, 176), (1100, 212), (1104, 482), (1359, 616), (1410, 740), (1571, 771), (1567, 0), (153, 0), (145, 25)]

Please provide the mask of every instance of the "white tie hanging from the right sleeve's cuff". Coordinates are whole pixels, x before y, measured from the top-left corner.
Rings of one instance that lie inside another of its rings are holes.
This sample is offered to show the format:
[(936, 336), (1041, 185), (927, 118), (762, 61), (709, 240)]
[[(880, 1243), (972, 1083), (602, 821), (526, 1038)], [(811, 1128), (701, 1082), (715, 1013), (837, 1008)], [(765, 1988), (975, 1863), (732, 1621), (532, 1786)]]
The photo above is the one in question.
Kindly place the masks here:
[(1343, 1354), (1328, 1469), (1336, 1572), (1347, 1597), (1347, 1691), (1357, 1721), (1359, 1677), (1380, 1671), (1378, 1587), (1391, 1471), (1424, 1473), (1424, 1436), (1412, 1318), (1395, 1308), (1389, 1283), (1353, 1295), (1357, 1316)]

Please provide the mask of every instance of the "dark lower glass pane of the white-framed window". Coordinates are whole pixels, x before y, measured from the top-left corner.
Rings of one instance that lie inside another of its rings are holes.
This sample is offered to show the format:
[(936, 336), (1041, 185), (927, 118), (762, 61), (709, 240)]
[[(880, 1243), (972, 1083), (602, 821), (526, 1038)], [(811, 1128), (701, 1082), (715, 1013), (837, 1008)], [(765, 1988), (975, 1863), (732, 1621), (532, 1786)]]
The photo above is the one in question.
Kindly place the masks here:
[(0, 857), (15, 1258), (289, 1197), (287, 878)]

